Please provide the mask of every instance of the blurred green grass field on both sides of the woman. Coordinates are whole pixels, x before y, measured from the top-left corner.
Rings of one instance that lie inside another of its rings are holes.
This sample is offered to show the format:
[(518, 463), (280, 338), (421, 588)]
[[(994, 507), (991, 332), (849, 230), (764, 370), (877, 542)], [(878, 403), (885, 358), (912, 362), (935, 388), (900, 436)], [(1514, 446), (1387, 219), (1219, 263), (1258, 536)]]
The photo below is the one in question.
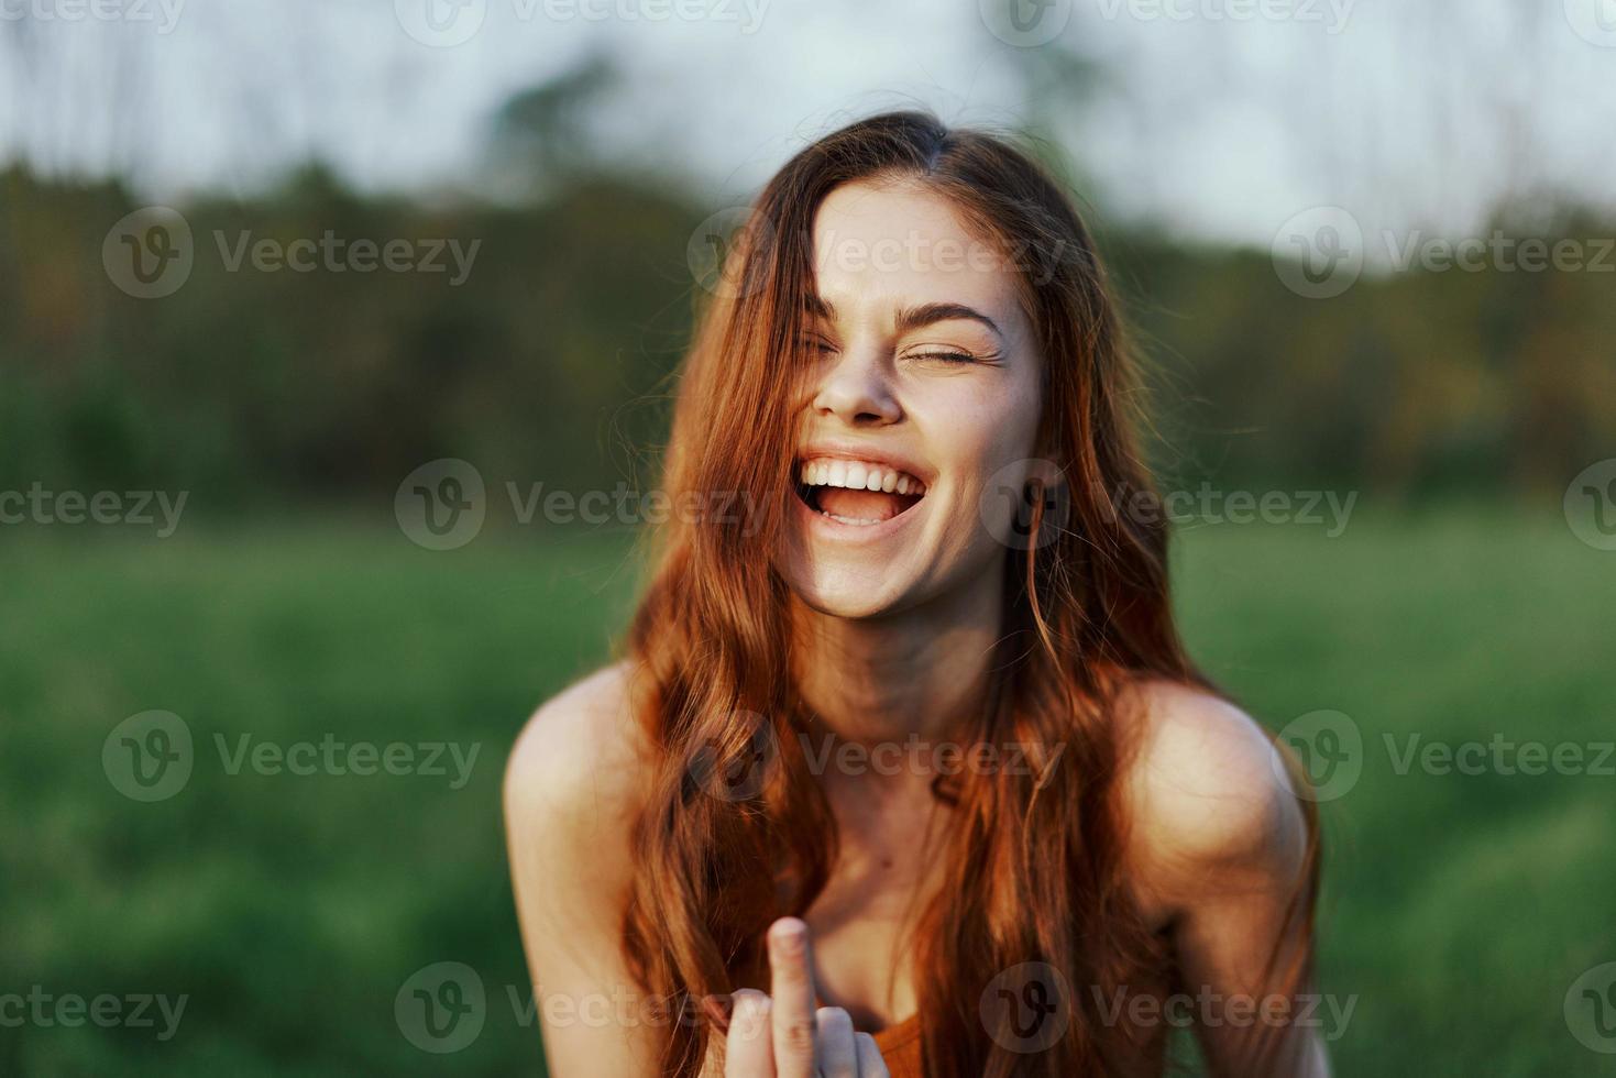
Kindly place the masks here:
[[(625, 551), (530, 532), (431, 553), (301, 520), (0, 533), (0, 994), (187, 996), (166, 1041), (160, 1018), (0, 1026), (0, 1073), (538, 1073), (501, 768), (533, 705), (606, 655), (632, 601)], [(1330, 1030), (1338, 1073), (1616, 1070), (1563, 1013), (1572, 981), (1616, 960), (1616, 777), (1396, 766), (1411, 734), (1616, 737), (1616, 556), (1555, 501), (1361, 506), (1333, 540), (1185, 530), (1178, 585), (1196, 655), (1248, 710), (1275, 729), (1340, 711), (1364, 740), (1356, 784), (1324, 805), (1322, 989), (1356, 996)], [(142, 803), (102, 750), (149, 710), (184, 719), (194, 768)], [(231, 774), (242, 735), (328, 734), (478, 755), (461, 789), (448, 760), (446, 776)], [(394, 1017), (436, 962), (486, 991), (452, 1054)]]

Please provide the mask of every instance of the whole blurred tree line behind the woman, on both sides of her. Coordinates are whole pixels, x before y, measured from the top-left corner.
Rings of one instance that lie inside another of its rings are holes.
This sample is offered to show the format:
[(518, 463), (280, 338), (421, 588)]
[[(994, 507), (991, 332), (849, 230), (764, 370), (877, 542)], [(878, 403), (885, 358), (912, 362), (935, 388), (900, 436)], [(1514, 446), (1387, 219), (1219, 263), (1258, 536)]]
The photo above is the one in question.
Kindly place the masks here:
[[(507, 113), (566, 116), (541, 94)], [(252, 507), (389, 496), (440, 456), (490, 485), (609, 488), (663, 430), (701, 294), (685, 249), (713, 207), (600, 162), (545, 176), (509, 204), (430, 204), (359, 196), (310, 165), (252, 200), (196, 199), (179, 207), (189, 280), (136, 299), (102, 265), (129, 191), (0, 173), (0, 488), (186, 488)], [(1366, 273), (1315, 301), (1267, 251), (1097, 226), (1173, 483), (1558, 488), (1611, 451), (1610, 272)], [(229, 272), (215, 238), (326, 231), (482, 246), (452, 286), (452, 272)], [(1576, 213), (1543, 229), (1613, 234)]]

